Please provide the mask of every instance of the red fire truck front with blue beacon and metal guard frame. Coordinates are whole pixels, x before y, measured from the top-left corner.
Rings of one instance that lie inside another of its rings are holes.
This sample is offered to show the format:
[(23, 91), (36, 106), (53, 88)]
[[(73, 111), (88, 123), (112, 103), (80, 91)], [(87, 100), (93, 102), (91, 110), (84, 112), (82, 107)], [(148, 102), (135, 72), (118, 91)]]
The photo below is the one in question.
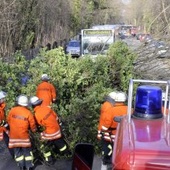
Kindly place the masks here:
[[(135, 99), (134, 83), (141, 84)], [(130, 80), (127, 115), (114, 119), (119, 124), (112, 155), (113, 170), (170, 169), (169, 85), (169, 81)]]

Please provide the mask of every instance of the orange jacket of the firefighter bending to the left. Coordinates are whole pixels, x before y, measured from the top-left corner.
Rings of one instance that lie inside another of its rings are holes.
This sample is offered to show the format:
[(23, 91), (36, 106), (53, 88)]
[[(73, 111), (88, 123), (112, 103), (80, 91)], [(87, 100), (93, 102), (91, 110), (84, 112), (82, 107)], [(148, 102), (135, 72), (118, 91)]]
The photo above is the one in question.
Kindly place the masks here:
[(37, 123), (45, 129), (41, 133), (41, 139), (54, 140), (61, 138), (57, 114), (47, 106), (36, 106), (34, 111)]

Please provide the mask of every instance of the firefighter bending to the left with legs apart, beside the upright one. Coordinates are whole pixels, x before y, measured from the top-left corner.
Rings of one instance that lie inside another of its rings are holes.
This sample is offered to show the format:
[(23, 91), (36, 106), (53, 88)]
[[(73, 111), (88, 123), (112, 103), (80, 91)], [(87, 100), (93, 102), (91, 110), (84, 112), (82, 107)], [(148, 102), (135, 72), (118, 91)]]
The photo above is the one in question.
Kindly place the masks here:
[(42, 99), (37, 96), (30, 98), (36, 122), (42, 129), (40, 135), (44, 144), (41, 146), (41, 150), (44, 150), (45, 163), (50, 165), (54, 162), (49, 147), (54, 147), (54, 151), (61, 154), (68, 153), (68, 147), (61, 133), (57, 114), (50, 107), (41, 105), (42, 102)]

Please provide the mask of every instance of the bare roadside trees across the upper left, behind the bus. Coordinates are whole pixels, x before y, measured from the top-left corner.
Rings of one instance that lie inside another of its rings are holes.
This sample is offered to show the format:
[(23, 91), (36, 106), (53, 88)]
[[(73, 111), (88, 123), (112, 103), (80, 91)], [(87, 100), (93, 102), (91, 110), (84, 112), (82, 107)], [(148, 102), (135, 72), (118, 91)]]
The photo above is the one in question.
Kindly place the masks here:
[(117, 0), (1, 0), (0, 55), (46, 46), (94, 24), (120, 20)]

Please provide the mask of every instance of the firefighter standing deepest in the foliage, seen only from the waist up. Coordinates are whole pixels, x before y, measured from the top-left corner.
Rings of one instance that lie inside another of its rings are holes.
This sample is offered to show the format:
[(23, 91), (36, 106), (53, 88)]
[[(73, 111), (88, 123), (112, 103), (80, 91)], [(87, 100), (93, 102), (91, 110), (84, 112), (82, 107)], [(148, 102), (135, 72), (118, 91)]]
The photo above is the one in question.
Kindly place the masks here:
[(42, 105), (51, 106), (56, 101), (56, 89), (53, 84), (49, 83), (50, 78), (47, 74), (43, 74), (41, 80), (42, 82), (36, 89), (36, 96), (42, 99)]

